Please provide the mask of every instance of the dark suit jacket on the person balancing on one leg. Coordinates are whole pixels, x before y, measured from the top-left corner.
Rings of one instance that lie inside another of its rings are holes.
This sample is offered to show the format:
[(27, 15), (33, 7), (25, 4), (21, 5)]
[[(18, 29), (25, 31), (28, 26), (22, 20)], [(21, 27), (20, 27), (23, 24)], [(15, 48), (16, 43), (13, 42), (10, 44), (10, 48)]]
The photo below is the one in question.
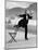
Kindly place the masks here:
[(24, 18), (18, 22), (18, 26), (20, 27), (25, 27), (28, 24), (28, 20), (31, 18), (31, 16), (29, 14), (27, 14), (28, 20), (26, 20), (26, 14), (22, 14), (20, 16), (24, 17)]

